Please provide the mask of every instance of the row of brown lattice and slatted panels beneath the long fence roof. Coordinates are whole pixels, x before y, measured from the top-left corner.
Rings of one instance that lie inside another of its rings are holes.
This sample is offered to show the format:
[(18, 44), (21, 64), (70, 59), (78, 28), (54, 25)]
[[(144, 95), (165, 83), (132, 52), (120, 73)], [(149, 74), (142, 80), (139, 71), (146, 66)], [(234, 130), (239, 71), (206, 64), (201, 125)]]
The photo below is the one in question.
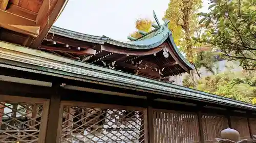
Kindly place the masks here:
[[(74, 101), (59, 103), (56, 110), (60, 113), (55, 124), (57, 143), (211, 143), (228, 127), (226, 116), (201, 112)], [(47, 128), (51, 129), (47, 127), (49, 104), (50, 99), (1, 95), (0, 142), (46, 143)], [(230, 123), (242, 139), (249, 139), (250, 133), (256, 134), (254, 118), (230, 117)]]

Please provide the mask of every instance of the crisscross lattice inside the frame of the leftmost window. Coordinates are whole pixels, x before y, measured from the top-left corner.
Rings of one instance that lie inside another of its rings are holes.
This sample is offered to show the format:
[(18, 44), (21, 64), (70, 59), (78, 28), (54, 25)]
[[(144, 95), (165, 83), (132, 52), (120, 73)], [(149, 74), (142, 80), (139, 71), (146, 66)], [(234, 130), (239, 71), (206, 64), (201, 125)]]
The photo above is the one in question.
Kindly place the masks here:
[(38, 141), (42, 105), (0, 102), (0, 142)]

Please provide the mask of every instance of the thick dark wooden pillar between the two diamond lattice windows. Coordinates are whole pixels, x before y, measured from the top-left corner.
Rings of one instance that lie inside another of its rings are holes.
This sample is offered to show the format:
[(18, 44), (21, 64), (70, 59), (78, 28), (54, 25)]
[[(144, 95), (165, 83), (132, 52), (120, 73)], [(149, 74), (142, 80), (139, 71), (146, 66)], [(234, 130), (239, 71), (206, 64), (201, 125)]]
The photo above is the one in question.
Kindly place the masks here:
[[(59, 135), (61, 132), (61, 123), (59, 126), (59, 121), (62, 119), (62, 110), (60, 106), (60, 95), (53, 93), (50, 100), (48, 124), (46, 132), (45, 142), (59, 143)], [(60, 127), (60, 128), (59, 128)]]

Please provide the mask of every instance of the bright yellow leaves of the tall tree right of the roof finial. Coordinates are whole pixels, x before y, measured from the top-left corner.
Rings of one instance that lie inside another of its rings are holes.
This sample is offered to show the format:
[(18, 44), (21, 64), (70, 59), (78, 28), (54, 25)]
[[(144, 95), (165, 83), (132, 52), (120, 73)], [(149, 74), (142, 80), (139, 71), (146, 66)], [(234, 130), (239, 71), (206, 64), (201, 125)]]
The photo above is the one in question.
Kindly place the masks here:
[[(164, 18), (170, 21), (168, 27), (173, 32), (174, 41), (184, 52), (188, 51), (186, 50), (187, 41), (185, 40), (185, 31), (182, 25), (188, 25), (188, 33), (192, 37), (195, 28), (198, 26), (197, 12), (201, 7), (201, 0), (170, 0), (168, 9), (165, 11)], [(189, 13), (184, 13), (184, 8), (190, 9)], [(188, 16), (187, 22), (183, 21), (183, 17), (186, 16)]]

